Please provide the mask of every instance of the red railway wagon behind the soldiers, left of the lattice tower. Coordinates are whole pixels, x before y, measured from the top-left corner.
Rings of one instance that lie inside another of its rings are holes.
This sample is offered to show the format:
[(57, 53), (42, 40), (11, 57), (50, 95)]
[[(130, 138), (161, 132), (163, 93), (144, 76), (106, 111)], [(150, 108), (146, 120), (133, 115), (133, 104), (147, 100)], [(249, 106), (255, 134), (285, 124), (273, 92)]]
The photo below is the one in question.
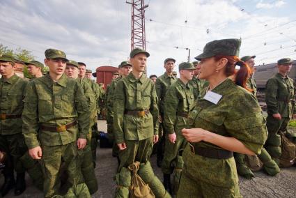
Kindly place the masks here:
[(106, 90), (107, 85), (112, 81), (113, 73), (118, 72), (118, 68), (112, 66), (100, 66), (96, 70), (97, 83), (104, 83), (104, 89)]

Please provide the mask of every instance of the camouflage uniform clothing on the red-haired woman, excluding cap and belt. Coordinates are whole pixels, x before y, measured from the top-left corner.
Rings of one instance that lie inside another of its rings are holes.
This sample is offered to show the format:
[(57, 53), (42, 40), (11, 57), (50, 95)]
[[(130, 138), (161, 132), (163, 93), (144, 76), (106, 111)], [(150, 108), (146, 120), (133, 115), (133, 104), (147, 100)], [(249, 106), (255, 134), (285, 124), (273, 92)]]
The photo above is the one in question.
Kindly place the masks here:
[[(198, 100), (189, 113), (189, 127), (235, 137), (251, 151), (259, 154), (267, 139), (267, 130), (256, 98), (249, 91), (235, 85), (231, 79), (224, 80), (212, 91), (222, 98), (217, 105), (205, 99)], [(205, 90), (201, 96), (204, 95)], [(222, 149), (206, 142), (192, 144)], [(234, 158), (215, 159), (194, 155), (188, 144), (182, 157), (184, 168), (178, 197), (240, 197)], [(208, 194), (204, 194), (207, 192)]]

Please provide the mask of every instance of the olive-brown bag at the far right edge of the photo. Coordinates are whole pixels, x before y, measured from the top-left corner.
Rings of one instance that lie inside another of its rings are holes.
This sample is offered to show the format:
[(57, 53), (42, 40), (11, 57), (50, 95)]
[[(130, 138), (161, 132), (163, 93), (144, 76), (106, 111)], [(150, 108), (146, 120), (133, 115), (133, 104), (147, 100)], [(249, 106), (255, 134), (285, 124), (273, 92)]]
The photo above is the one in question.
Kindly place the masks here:
[(291, 167), (295, 163), (295, 144), (290, 142), (283, 132), (281, 135), (281, 157), (279, 158), (280, 167)]

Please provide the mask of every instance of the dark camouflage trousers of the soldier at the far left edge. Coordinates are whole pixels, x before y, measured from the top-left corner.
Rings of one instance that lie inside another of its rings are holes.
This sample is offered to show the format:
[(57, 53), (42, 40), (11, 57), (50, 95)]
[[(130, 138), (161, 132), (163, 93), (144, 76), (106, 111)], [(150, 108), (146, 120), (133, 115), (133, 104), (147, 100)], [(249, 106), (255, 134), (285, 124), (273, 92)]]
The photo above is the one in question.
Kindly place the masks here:
[(14, 135), (0, 135), (0, 149), (7, 153), (4, 174), (13, 174), (13, 169), (17, 173), (25, 172), (20, 158), (28, 151), (28, 148), (21, 132)]

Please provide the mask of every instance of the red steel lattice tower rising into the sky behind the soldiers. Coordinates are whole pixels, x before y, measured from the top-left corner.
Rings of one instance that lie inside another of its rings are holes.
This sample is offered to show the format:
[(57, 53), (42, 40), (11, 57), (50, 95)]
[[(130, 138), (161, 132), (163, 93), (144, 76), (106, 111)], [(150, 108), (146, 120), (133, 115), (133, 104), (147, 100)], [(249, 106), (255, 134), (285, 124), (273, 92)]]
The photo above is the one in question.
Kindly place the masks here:
[(146, 33), (145, 33), (145, 5), (144, 0), (132, 0), (132, 2), (126, 1), (126, 3), (132, 5), (132, 36), (130, 48), (133, 50), (139, 47), (146, 50)]

